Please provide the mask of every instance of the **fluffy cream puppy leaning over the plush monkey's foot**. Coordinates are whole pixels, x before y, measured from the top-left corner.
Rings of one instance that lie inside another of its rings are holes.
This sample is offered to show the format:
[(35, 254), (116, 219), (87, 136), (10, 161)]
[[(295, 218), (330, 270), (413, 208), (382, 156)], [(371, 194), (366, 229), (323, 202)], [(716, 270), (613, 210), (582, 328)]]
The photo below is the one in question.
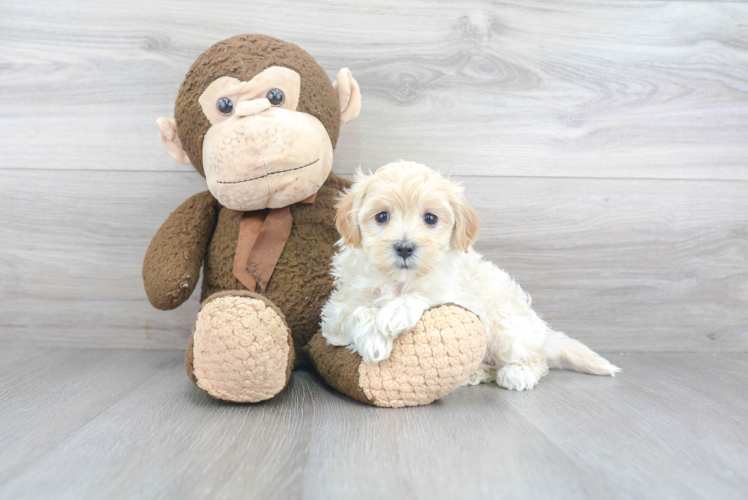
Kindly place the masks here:
[(461, 188), (437, 172), (405, 161), (373, 175), (359, 172), (337, 210), (335, 289), (322, 310), (330, 344), (379, 362), (424, 311), (451, 302), (486, 327), (488, 349), (471, 384), (495, 380), (506, 389), (532, 389), (558, 362), (596, 375), (619, 371), (552, 330), (530, 307), (530, 296), (473, 250), (478, 217)]

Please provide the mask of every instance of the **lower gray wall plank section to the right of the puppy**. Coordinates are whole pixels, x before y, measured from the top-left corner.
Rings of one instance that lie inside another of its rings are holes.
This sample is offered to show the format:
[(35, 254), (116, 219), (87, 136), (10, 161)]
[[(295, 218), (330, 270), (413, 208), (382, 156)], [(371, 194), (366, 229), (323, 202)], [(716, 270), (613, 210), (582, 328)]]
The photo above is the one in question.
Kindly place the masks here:
[(748, 348), (748, 184), (464, 185), (483, 219), (476, 248), (554, 328), (607, 351)]

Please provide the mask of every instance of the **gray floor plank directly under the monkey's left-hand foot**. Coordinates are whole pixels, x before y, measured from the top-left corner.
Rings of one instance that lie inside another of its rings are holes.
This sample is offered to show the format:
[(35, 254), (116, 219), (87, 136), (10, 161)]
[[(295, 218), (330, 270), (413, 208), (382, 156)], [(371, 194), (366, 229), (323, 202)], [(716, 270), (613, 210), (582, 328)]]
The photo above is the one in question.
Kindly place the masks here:
[(294, 377), (265, 403), (220, 402), (172, 352), (137, 391), (0, 484), (0, 498), (301, 498), (309, 384)]

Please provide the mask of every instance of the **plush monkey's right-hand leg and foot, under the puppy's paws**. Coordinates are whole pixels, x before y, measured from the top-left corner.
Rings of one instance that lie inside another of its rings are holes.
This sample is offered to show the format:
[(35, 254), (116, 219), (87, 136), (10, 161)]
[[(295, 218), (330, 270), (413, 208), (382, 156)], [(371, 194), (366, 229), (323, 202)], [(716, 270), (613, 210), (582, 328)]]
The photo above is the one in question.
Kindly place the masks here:
[(362, 363), (358, 353), (328, 345), (319, 332), (310, 342), (312, 362), (328, 384), (364, 403), (391, 408), (446, 396), (475, 372), (485, 353), (483, 324), (455, 305), (426, 311), (379, 363)]

